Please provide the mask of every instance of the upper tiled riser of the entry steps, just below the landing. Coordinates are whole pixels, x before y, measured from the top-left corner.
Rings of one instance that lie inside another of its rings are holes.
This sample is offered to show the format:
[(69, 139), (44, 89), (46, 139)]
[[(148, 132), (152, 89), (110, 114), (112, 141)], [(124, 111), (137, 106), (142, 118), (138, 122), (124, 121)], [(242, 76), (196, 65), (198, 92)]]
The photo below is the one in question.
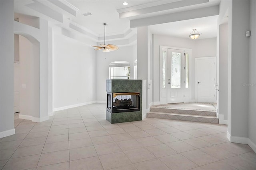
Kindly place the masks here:
[(178, 113), (178, 114), (192, 114), (200, 116), (216, 116), (216, 112), (198, 111), (198, 110), (178, 110), (168, 108), (150, 108), (150, 112), (164, 112), (164, 113)]

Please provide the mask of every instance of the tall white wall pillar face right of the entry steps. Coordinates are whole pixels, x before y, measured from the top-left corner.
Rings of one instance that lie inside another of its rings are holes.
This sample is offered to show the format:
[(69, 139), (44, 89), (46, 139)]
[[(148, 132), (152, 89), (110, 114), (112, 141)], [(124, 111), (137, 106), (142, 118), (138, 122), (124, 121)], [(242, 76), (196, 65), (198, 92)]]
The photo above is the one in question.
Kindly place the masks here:
[[(231, 82), (231, 136), (248, 137), (248, 87), (249, 83), (249, 1), (232, 1), (232, 51), (230, 72)], [(240, 11), (243, 12), (240, 12)]]

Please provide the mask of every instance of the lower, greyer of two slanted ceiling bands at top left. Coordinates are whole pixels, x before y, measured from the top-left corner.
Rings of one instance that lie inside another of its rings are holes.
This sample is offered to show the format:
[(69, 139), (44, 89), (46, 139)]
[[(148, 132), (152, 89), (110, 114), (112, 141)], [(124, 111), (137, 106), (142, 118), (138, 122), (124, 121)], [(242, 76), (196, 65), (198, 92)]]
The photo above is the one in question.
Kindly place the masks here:
[(32, 10), (35, 10), (37, 12), (40, 12), (41, 14), (44, 14), (45, 16), (48, 16), (58, 22), (63, 22), (63, 15), (57, 12), (56, 10), (53, 10), (52, 8), (49, 8), (48, 6), (34, 0), (31, 4), (26, 4), (28, 8), (31, 8)]

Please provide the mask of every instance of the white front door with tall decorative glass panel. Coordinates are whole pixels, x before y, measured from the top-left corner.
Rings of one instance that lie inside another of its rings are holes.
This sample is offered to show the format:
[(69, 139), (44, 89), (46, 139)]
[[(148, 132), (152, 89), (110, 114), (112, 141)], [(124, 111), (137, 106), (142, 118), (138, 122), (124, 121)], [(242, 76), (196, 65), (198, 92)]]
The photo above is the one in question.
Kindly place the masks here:
[(184, 50), (168, 49), (168, 103), (184, 102)]

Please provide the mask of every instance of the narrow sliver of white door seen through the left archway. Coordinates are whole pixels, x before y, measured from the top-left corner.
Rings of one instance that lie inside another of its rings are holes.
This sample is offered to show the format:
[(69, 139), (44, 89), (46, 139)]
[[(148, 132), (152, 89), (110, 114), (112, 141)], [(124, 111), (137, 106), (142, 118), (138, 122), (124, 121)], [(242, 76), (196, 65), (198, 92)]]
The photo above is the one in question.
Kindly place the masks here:
[(14, 113), (20, 112), (20, 63), (14, 63)]

